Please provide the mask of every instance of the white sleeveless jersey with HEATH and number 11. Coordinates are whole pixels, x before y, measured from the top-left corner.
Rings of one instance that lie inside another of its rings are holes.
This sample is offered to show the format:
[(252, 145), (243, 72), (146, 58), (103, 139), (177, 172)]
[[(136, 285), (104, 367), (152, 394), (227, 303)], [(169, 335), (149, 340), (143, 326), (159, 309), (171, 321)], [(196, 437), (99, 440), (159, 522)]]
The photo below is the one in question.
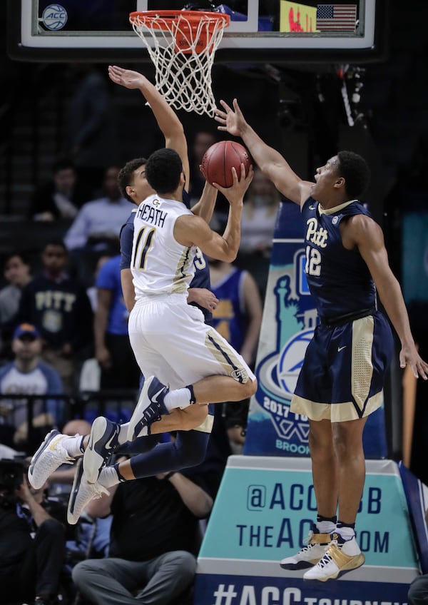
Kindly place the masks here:
[(183, 203), (150, 195), (134, 218), (131, 273), (136, 300), (142, 296), (186, 293), (195, 274), (196, 247), (174, 238), (175, 220), (193, 215)]

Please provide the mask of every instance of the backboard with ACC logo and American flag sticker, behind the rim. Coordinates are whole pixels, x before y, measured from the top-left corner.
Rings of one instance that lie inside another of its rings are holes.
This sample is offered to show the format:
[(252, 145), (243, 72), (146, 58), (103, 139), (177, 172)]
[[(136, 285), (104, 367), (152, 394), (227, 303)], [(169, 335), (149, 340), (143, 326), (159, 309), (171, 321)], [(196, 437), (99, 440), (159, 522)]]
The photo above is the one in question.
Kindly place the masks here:
[(149, 63), (129, 14), (198, 5), (230, 14), (216, 63), (361, 64), (384, 56), (387, 1), (8, 0), (8, 52), (22, 61)]

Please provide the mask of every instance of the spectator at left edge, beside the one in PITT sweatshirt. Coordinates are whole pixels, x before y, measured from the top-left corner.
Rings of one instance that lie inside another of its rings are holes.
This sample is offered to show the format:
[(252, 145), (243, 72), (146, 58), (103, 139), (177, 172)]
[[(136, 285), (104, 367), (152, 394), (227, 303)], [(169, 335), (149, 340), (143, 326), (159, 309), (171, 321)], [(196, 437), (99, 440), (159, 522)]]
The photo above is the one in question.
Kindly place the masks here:
[(1, 357), (11, 357), (10, 342), (22, 289), (31, 280), (29, 259), (24, 253), (11, 253), (6, 256), (3, 271), (8, 285), (0, 290)]

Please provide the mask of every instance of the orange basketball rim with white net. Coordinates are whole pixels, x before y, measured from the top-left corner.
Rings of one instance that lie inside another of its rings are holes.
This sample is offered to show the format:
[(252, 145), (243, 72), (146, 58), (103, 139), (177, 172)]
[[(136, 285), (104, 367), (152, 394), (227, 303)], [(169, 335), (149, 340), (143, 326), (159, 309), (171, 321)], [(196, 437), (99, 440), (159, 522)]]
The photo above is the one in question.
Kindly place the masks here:
[(156, 67), (156, 88), (175, 109), (214, 116), (211, 68), (230, 16), (205, 11), (129, 15)]

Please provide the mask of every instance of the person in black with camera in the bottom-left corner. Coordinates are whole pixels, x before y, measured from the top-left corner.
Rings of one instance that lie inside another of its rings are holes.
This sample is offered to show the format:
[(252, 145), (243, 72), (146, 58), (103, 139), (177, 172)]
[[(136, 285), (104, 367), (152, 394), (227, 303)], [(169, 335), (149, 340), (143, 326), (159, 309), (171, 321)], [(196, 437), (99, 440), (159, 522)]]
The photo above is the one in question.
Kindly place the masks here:
[(29, 486), (27, 467), (19, 457), (0, 460), (0, 603), (53, 605), (66, 529), (51, 516), (44, 487)]

